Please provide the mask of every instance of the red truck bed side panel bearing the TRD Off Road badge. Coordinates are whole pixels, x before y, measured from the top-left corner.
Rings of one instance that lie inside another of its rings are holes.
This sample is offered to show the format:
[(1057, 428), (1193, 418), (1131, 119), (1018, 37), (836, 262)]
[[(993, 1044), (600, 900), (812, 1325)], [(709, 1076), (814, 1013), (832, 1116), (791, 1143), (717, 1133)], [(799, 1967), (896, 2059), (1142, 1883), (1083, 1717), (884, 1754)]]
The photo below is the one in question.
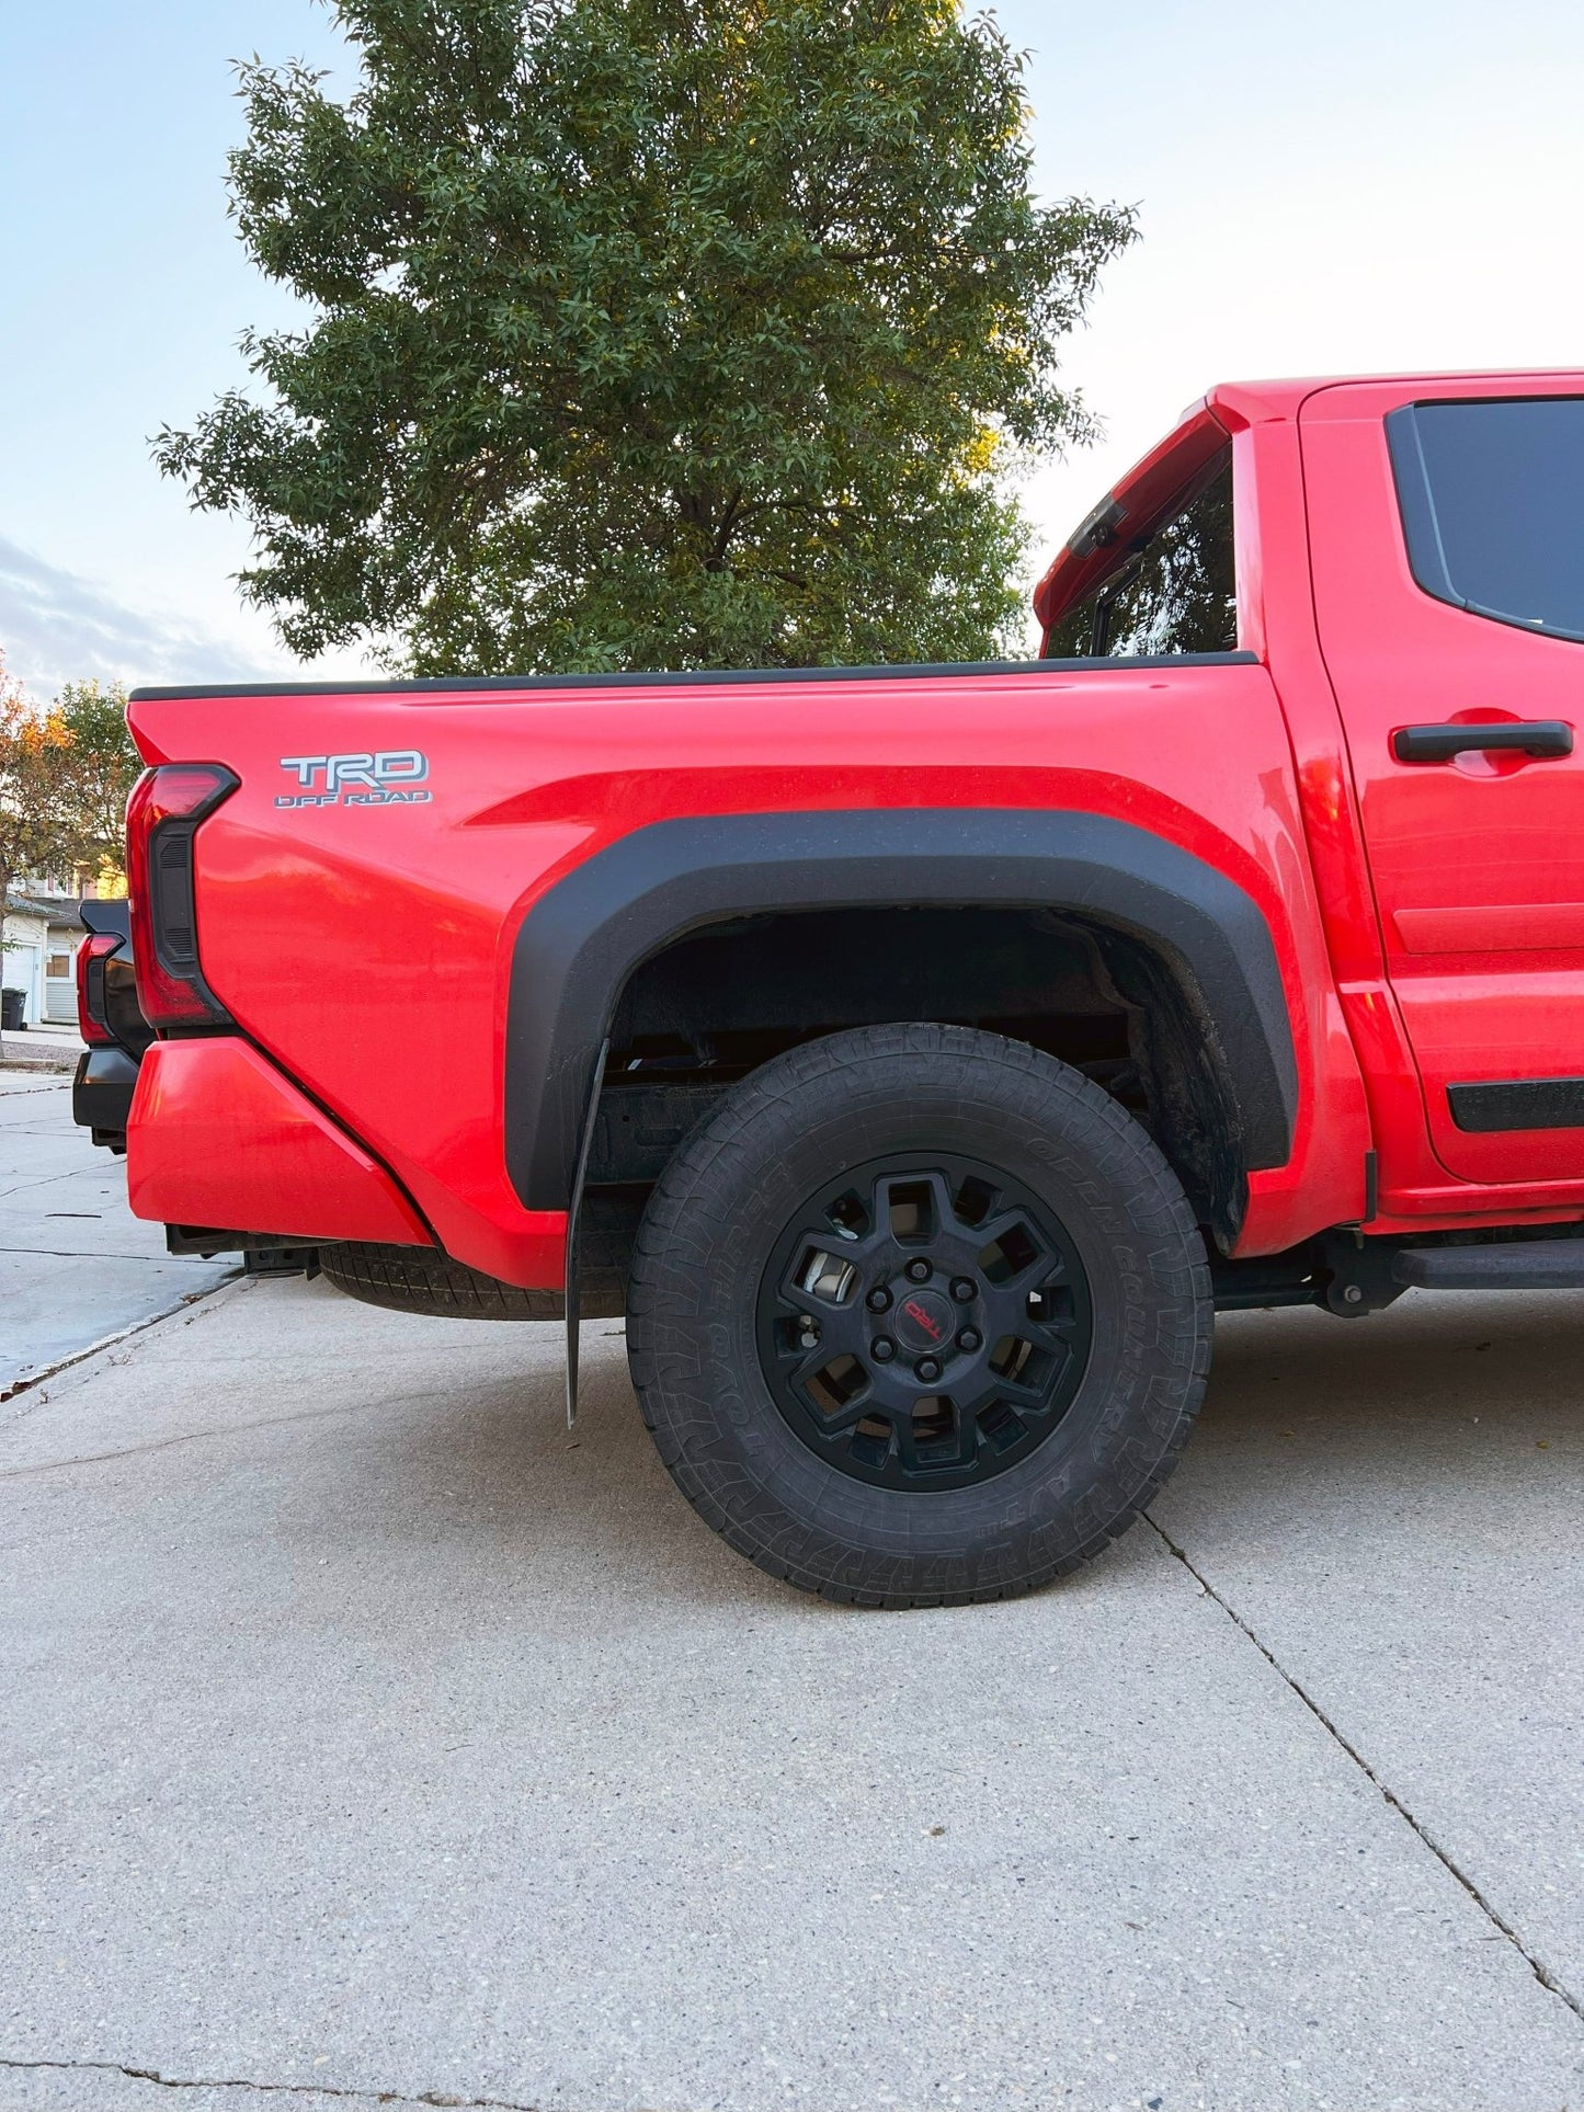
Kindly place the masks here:
[[(215, 703), (135, 712), (161, 746), (224, 733), (243, 779), (201, 834), (215, 995), (399, 1174), (448, 1252), (509, 1282), (545, 1280), (543, 1231), (501, 1149), (511, 942), (572, 862), (672, 815), (1069, 807), (1198, 853), (1265, 910), (1295, 1018), (1305, 1090), (1290, 1178), (1261, 1200), (1269, 1238), (1290, 1244), (1316, 1206), (1358, 1214), (1362, 1100), (1354, 1079), (1343, 1162), (1333, 1098), (1350, 1052), (1318, 1056), (1328, 969), (1265, 670), (819, 682), (796, 693), (796, 731), (784, 697), (722, 684), (275, 697), (268, 716), (230, 708), (228, 722)], [(1185, 714), (1217, 737), (1185, 750)], [(348, 750), (422, 746), (433, 800), (277, 811), (281, 754), (323, 752), (327, 724)], [(900, 752), (929, 760), (898, 765)]]

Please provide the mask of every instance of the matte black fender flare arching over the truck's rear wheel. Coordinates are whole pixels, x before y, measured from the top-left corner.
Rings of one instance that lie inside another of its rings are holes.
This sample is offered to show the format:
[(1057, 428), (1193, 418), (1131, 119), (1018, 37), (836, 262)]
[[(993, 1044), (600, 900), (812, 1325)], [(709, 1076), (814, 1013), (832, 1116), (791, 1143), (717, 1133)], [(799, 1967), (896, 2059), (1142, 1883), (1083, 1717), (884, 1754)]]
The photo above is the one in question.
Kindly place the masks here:
[(591, 1073), (627, 978), (689, 931), (771, 910), (1075, 910), (1149, 940), (1214, 1020), (1246, 1168), (1284, 1166), (1297, 1060), (1257, 904), (1176, 845), (1090, 813), (910, 807), (655, 822), (566, 874), (524, 919), (507, 1005), (507, 1170), (564, 1210)]

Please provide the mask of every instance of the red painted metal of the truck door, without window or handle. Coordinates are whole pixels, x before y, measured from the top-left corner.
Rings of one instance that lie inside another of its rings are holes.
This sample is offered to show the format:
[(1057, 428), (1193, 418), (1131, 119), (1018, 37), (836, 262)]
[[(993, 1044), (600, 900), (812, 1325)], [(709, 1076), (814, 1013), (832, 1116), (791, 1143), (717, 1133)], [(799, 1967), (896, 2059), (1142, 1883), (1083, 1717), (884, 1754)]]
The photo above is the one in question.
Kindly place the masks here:
[(1584, 1128), (1468, 1134), (1447, 1088), (1584, 1069), (1584, 752), (1400, 762), (1404, 724), (1578, 724), (1584, 646), (1453, 608), (1409, 568), (1385, 416), (1426, 397), (1580, 395), (1584, 376), (1350, 382), (1299, 416), (1320, 644), (1358, 788), (1383, 967), (1440, 1183), (1584, 1178)]

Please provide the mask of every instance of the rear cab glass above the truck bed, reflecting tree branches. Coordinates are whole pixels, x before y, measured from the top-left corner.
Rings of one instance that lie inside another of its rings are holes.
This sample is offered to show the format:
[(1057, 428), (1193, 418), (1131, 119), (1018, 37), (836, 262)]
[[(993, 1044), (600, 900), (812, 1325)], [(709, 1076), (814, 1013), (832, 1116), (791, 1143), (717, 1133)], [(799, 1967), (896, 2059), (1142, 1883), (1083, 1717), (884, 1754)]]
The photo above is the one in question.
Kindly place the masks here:
[(1236, 653), (1231, 448), (1143, 541), (1126, 526), (1115, 568), (1045, 636), (1048, 659), (1134, 653)]

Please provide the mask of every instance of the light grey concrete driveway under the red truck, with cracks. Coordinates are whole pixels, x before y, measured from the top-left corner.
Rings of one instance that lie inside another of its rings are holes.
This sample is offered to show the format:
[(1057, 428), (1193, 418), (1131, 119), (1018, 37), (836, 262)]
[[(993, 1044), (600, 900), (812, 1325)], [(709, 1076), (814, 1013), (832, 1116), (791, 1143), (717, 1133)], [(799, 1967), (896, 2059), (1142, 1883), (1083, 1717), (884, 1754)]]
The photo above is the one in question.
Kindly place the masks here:
[(1584, 2108), (1584, 1297), (1229, 1318), (1153, 1527), (925, 1614), (555, 1337), (234, 1282), (0, 1407), (0, 2106)]

